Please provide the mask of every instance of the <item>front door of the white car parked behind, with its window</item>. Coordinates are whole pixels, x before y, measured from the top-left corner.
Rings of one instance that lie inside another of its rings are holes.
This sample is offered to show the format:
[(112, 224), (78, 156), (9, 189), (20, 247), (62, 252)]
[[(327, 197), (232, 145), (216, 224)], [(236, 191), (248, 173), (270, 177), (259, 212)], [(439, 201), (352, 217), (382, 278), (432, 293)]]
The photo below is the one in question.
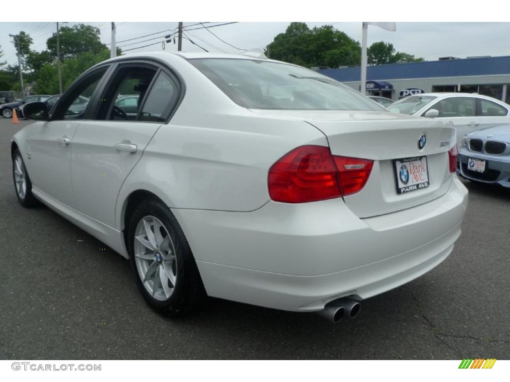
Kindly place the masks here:
[(478, 129), (479, 122), (476, 117), (475, 97), (448, 97), (440, 99), (427, 105), (427, 109), (421, 116), (430, 109), (439, 111), (437, 119), (451, 121), (457, 134), (457, 145), (462, 142), (462, 137), (470, 131)]

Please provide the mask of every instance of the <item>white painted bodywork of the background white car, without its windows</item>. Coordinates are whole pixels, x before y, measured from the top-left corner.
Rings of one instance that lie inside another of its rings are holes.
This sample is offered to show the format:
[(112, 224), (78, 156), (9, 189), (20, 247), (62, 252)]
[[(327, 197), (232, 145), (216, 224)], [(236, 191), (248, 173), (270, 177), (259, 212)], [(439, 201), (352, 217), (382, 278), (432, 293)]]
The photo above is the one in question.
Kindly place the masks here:
[[(474, 98), (474, 99), (484, 99), (488, 100), (490, 102), (494, 102), (506, 109), (507, 114), (505, 116), (472, 116), (472, 117), (436, 117), (436, 120), (444, 120), (444, 121), (450, 121), (453, 123), (453, 126), (456, 130), (456, 137), (457, 137), (457, 145), (460, 146), (462, 142), (462, 138), (464, 135), (466, 135), (468, 132), (477, 130), (479, 128), (486, 128), (486, 127), (492, 127), (496, 125), (500, 125), (502, 123), (510, 123), (510, 105), (507, 103), (504, 103), (498, 99), (480, 95), (480, 94), (471, 94), (471, 93), (422, 93), (417, 94), (417, 96), (433, 96), (437, 97), (434, 100), (427, 103), (425, 106), (421, 107), (420, 110), (418, 110), (416, 113), (413, 114), (413, 116), (416, 117), (424, 117), (424, 114), (430, 110), (436, 108), (437, 110), (437, 104), (438, 102), (447, 99), (447, 98), (454, 98), (454, 97), (468, 97), (468, 98)], [(388, 106), (389, 110), (391, 111), (391, 107), (394, 106), (395, 103)]]

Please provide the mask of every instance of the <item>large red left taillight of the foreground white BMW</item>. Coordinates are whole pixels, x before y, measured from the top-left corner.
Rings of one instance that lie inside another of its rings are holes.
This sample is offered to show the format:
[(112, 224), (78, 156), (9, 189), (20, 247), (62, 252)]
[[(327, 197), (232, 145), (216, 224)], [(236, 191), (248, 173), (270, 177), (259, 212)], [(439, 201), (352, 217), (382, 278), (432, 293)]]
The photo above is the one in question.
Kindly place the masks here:
[(328, 147), (301, 146), (269, 169), (269, 196), (276, 202), (306, 203), (358, 192), (373, 161), (333, 156)]

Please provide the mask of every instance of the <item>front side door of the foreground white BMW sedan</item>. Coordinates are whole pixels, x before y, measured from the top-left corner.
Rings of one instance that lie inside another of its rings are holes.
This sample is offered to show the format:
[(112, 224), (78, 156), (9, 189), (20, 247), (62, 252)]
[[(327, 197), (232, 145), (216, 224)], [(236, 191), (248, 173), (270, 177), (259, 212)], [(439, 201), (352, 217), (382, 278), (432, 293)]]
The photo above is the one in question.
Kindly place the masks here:
[(95, 91), (106, 70), (107, 67), (103, 67), (85, 75), (67, 90), (50, 120), (34, 124), (27, 140), (26, 166), (32, 184), (73, 208), (76, 203), (70, 171), (72, 140), (86, 115), (86, 105), (78, 113), (72, 112), (72, 105), (80, 95), (91, 95)]

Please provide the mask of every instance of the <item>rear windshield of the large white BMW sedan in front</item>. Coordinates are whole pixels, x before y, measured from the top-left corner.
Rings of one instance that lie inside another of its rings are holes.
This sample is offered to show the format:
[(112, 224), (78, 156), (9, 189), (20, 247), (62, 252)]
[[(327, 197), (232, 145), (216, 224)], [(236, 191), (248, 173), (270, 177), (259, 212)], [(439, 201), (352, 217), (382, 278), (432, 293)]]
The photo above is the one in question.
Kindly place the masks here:
[(237, 104), (271, 110), (385, 109), (316, 71), (263, 60), (190, 60)]

